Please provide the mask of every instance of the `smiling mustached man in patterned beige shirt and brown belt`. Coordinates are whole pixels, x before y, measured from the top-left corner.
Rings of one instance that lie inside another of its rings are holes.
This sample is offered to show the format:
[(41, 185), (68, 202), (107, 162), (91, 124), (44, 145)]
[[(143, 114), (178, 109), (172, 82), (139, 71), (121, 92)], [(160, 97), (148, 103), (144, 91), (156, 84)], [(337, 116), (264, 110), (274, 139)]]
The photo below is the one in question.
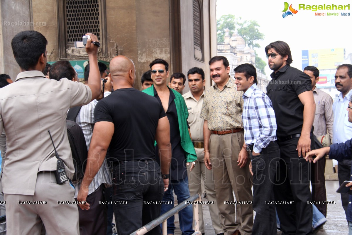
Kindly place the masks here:
[[(225, 235), (250, 235), (253, 227), (252, 184), (242, 124), (243, 92), (230, 78), (224, 56), (210, 59), (214, 85), (207, 89), (201, 118), (204, 118), (204, 163), (213, 168), (216, 201)], [(210, 153), (209, 153), (210, 151)], [(236, 201), (243, 204), (232, 205)], [(226, 204), (230, 201), (230, 204)], [(235, 208), (237, 215), (235, 214)]]

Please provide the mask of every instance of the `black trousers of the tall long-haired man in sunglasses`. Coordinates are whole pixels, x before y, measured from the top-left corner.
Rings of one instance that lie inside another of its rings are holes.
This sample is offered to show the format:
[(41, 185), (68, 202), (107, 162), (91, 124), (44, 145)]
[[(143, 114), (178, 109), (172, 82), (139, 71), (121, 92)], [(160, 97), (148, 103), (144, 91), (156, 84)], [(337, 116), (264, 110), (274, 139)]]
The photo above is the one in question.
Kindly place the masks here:
[[(306, 235), (312, 233), (312, 201), (309, 189), (310, 163), (303, 155), (298, 157), (297, 143), (299, 137), (277, 141), (281, 159), (276, 171), (274, 197), (276, 202), (294, 202), (294, 204), (276, 205), (283, 235)], [(314, 146), (310, 138), (311, 148)]]

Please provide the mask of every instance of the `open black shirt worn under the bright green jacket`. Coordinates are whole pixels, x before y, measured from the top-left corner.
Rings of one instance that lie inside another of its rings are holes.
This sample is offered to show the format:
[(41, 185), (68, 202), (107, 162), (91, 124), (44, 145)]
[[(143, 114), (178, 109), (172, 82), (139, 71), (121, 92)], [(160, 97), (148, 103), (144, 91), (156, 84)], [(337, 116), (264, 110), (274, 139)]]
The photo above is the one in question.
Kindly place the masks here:
[[(170, 123), (170, 143), (172, 150), (172, 158), (171, 158), (171, 166), (170, 166), (170, 179), (171, 180), (180, 180), (184, 179), (187, 176), (187, 168), (186, 168), (186, 155), (184, 154), (184, 150), (181, 146), (181, 135), (180, 135), (180, 127), (178, 126), (178, 116), (175, 104), (175, 94), (170, 91), (169, 96), (169, 107), (166, 111), (166, 116), (169, 119)], [(162, 105), (160, 97), (154, 87), (154, 96)], [(156, 146), (156, 151), (158, 153), (158, 148)], [(156, 154), (158, 156), (158, 154)], [(158, 161), (159, 162), (159, 161)], [(160, 163), (159, 163), (160, 164)]]

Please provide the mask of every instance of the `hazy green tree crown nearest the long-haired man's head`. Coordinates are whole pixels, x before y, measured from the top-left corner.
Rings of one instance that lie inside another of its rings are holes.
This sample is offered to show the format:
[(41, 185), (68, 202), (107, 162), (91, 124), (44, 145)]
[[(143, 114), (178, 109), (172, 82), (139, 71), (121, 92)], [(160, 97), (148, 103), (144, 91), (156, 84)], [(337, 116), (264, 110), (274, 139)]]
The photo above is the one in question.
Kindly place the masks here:
[(255, 20), (245, 20), (243, 23), (237, 23), (238, 35), (243, 37), (247, 45), (251, 48), (259, 48), (260, 45), (256, 43), (258, 40), (264, 39), (264, 34), (259, 32), (259, 24)]

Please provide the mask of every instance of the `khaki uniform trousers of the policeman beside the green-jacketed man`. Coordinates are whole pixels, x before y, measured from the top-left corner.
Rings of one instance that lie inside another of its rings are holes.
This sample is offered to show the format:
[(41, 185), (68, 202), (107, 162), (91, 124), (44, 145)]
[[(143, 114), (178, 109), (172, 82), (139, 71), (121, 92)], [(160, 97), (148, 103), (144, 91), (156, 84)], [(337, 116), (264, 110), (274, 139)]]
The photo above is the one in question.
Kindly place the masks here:
[[(214, 204), (209, 204), (209, 212), (210, 218), (212, 219), (213, 228), (215, 230), (215, 234), (223, 233), (224, 231), (221, 229), (220, 218), (219, 218), (219, 209), (216, 203), (216, 195), (215, 195), (215, 185), (214, 185), (214, 177), (213, 170), (209, 171), (204, 164), (204, 148), (194, 148), (197, 154), (196, 165), (192, 171), (189, 171), (191, 164), (187, 166), (187, 174), (188, 174), (188, 187), (190, 195), (193, 196), (196, 193), (202, 195), (202, 187), (201, 181), (203, 180), (204, 189), (207, 193), (207, 199), (209, 202), (214, 202)], [(204, 221), (203, 221), (203, 209), (202, 205), (199, 205), (199, 230), (201, 233), (204, 233)], [(194, 211), (193, 211), (194, 215)], [(193, 217), (194, 218), (194, 217)], [(193, 224), (194, 228), (194, 224)]]

